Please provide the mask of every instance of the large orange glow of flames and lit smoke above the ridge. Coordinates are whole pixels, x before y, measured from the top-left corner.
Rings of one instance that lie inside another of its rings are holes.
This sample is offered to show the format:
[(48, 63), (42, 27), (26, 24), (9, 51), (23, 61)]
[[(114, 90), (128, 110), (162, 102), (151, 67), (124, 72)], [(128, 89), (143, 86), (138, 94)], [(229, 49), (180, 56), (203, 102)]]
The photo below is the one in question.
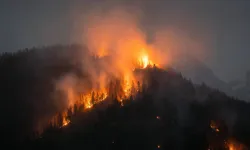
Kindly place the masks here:
[(67, 99), (65, 109), (74, 106), (77, 110), (80, 107), (91, 110), (108, 99), (117, 99), (123, 106), (125, 100), (134, 99), (140, 91), (137, 85), (140, 79), (134, 76), (133, 70), (162, 61), (162, 55), (147, 44), (146, 36), (137, 26), (137, 18), (120, 9), (103, 14), (90, 14), (83, 26), (84, 44), (95, 58), (80, 57), (82, 71), (89, 75), (88, 79), (73, 76), (60, 81), (59, 87)]

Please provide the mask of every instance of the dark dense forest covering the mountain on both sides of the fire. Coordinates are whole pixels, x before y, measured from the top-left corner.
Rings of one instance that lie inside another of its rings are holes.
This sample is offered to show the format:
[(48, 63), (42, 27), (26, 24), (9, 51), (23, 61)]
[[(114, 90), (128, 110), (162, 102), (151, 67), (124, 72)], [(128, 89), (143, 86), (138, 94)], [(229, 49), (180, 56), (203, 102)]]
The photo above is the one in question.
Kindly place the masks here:
[[(174, 69), (136, 69), (147, 80), (124, 104), (111, 98), (93, 109), (68, 112), (65, 128), (39, 122), (65, 109), (54, 82), (78, 72), (79, 45), (25, 49), (0, 56), (1, 133), (8, 142), (32, 149), (229, 149), (228, 139), (250, 146), (250, 104), (205, 84), (194, 85)], [(81, 75), (84, 76), (84, 75)], [(105, 105), (105, 109), (102, 109)], [(216, 124), (216, 125), (213, 125)], [(218, 126), (214, 128), (214, 126)]]

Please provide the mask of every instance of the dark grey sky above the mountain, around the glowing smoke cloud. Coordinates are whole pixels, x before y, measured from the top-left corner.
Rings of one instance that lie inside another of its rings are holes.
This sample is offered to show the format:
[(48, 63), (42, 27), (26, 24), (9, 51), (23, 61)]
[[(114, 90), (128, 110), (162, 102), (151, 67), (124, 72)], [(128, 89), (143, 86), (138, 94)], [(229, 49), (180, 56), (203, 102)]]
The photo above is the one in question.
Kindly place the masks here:
[[(142, 10), (145, 28), (172, 25), (204, 41), (203, 35), (209, 35), (211, 50), (204, 61), (221, 79), (243, 78), (250, 69), (250, 1), (123, 3)], [(110, 0), (0, 0), (0, 52), (74, 42), (74, 16), (95, 5), (111, 4)]]

